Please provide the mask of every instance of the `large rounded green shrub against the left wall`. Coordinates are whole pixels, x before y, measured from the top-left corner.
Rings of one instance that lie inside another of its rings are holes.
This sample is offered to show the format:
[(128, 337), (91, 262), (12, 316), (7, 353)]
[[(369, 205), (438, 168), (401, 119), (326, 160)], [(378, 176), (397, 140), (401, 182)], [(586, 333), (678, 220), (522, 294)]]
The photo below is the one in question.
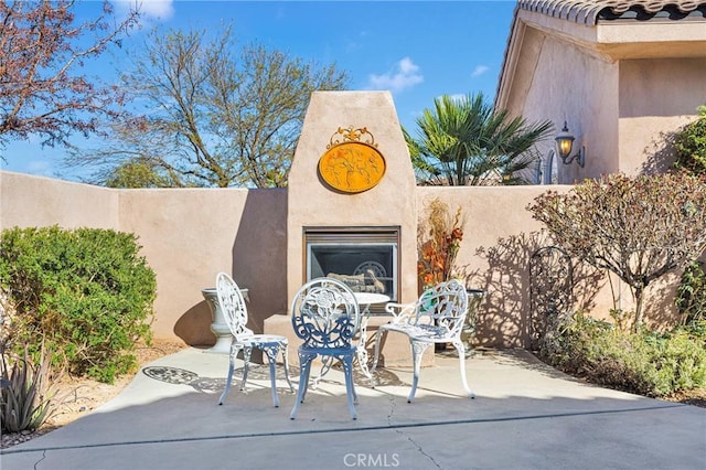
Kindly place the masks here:
[(0, 288), (12, 311), (9, 342), (40, 339), (52, 364), (113, 383), (137, 365), (135, 343), (150, 341), (157, 285), (132, 234), (57, 226), (12, 228), (0, 238)]

